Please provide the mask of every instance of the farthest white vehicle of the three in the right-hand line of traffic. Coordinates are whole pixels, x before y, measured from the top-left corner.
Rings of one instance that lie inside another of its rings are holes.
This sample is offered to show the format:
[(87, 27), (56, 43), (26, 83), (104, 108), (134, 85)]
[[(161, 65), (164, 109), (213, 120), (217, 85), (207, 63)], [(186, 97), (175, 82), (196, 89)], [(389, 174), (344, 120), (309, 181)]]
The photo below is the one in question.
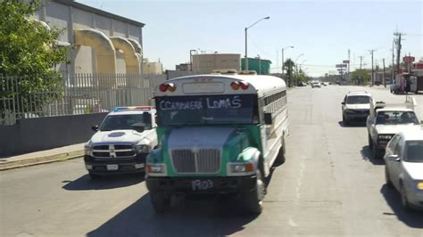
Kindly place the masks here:
[(342, 104), (342, 121), (348, 125), (352, 120), (366, 120), (369, 116), (371, 94), (367, 92), (349, 92)]

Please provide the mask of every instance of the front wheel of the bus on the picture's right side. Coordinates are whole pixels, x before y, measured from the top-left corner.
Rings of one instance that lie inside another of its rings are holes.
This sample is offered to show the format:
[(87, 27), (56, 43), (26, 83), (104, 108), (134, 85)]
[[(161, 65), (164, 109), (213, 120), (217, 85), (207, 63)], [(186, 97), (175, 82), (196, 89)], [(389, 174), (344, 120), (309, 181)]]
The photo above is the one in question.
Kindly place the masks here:
[(247, 212), (252, 214), (260, 214), (263, 209), (263, 199), (265, 195), (265, 184), (261, 177), (260, 170), (257, 170), (257, 178), (255, 189), (245, 193), (245, 209)]

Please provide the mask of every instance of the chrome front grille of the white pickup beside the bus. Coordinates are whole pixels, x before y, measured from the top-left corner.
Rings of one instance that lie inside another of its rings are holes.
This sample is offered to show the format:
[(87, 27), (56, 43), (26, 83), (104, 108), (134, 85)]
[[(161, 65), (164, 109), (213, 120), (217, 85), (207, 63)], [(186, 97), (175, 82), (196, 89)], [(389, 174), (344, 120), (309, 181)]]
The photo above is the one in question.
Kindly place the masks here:
[(94, 145), (93, 157), (99, 159), (135, 157), (132, 144)]

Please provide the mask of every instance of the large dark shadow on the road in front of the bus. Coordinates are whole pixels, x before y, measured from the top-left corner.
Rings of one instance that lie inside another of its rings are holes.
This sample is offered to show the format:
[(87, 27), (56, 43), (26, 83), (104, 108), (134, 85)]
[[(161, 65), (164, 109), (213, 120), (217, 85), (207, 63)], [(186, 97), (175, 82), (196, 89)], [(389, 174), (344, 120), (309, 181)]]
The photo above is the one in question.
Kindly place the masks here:
[(227, 200), (184, 199), (159, 215), (147, 193), (87, 236), (223, 236), (242, 231), (257, 217), (238, 212)]

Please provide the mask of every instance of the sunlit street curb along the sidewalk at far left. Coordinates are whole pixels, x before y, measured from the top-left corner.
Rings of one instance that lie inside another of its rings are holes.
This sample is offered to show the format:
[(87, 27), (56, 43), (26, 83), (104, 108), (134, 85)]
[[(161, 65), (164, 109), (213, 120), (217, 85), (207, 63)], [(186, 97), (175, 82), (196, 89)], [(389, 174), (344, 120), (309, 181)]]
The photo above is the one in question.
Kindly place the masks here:
[(37, 165), (48, 164), (48, 163), (53, 163), (58, 161), (65, 161), (69, 159), (77, 159), (83, 156), (84, 156), (84, 151), (71, 151), (71, 152), (66, 152), (66, 153), (57, 154), (53, 156), (10, 161), (5, 163), (0, 163), (0, 171), (9, 170), (12, 168), (24, 168), (24, 167), (37, 166)]

